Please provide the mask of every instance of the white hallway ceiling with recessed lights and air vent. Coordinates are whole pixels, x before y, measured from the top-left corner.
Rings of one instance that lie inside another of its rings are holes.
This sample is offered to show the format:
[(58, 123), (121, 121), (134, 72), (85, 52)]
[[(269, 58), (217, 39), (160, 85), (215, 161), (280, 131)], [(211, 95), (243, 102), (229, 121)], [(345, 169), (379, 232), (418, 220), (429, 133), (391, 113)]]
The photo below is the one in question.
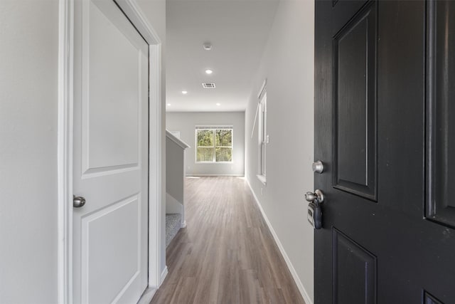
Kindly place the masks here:
[[(168, 0), (166, 110), (245, 110), (277, 5), (278, 0)], [(205, 42), (211, 51), (203, 49)], [(213, 74), (205, 74), (208, 68)]]

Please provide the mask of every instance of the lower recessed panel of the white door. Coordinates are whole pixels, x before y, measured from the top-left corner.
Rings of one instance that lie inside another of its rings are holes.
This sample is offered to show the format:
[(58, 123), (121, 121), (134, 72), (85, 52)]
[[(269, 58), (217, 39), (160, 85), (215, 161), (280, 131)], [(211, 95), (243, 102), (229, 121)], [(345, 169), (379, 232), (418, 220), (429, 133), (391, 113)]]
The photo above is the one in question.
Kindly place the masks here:
[[(111, 288), (128, 288), (139, 275), (139, 203), (134, 195), (82, 218), (82, 282), (87, 284), (82, 288), (83, 302), (110, 303)], [(125, 278), (129, 278), (127, 285)], [(98, 282), (109, 284), (90, 288)]]

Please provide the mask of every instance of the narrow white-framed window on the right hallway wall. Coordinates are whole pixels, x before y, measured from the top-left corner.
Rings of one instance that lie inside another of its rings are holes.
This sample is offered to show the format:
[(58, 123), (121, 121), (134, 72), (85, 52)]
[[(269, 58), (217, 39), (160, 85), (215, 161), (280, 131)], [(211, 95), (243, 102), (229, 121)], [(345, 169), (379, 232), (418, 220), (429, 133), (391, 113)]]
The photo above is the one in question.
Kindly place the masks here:
[(266, 184), (267, 176), (267, 143), (269, 142), (269, 136), (267, 135), (267, 80), (264, 80), (259, 95), (259, 112), (258, 112), (258, 172), (257, 178), (262, 184)]

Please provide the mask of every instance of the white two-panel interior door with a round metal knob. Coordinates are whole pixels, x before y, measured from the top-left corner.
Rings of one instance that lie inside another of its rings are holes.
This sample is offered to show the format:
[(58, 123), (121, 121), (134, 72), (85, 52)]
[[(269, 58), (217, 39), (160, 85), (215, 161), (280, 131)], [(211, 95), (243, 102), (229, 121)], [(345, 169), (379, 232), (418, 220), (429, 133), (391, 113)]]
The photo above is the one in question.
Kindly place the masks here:
[(136, 303), (147, 285), (148, 65), (114, 1), (75, 1), (74, 303)]

